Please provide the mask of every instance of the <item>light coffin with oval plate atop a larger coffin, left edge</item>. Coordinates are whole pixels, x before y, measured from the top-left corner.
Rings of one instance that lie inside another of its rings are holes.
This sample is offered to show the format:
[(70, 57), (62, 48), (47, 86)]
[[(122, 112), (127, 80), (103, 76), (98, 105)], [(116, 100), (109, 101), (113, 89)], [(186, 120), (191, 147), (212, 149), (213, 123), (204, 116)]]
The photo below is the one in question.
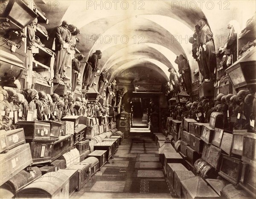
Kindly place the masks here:
[(23, 129), (15, 129), (15, 130), (1, 130), (1, 147), (0, 153), (3, 151), (10, 150), (14, 147), (19, 146), (20, 144), (25, 143), (25, 135)]

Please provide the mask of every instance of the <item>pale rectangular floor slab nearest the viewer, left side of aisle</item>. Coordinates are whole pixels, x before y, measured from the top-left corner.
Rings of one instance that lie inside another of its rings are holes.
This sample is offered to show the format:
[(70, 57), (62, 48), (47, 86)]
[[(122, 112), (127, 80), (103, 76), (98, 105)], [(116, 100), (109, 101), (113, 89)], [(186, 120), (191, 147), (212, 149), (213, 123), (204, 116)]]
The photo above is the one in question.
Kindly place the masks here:
[(90, 191), (96, 192), (122, 192), (125, 187), (125, 181), (111, 182), (111, 181), (98, 181)]

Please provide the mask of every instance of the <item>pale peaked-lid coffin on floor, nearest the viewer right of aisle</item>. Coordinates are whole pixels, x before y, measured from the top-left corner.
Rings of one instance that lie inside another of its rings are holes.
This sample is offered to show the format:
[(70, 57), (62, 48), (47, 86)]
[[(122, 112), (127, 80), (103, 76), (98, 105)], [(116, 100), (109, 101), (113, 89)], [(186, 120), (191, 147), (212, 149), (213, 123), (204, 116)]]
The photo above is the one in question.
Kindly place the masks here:
[(219, 198), (219, 195), (200, 177), (181, 181), (183, 199)]

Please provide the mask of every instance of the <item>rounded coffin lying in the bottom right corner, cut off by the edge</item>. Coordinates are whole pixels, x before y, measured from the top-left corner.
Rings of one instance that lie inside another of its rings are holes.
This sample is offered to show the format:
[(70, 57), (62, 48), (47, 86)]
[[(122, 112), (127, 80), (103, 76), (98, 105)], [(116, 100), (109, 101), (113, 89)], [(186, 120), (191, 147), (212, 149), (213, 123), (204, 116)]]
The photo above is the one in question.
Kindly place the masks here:
[[(228, 184), (221, 190), (221, 198), (225, 199), (252, 199), (253, 196), (250, 196), (246, 191), (237, 188), (233, 184)], [(255, 198), (255, 197), (254, 197)]]

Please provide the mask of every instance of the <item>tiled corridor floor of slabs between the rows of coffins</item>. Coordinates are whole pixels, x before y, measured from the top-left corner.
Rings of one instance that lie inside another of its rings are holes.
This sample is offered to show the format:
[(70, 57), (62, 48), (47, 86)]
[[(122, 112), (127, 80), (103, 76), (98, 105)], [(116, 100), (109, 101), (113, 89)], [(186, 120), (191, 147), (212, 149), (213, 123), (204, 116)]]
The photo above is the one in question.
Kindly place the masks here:
[(150, 133), (125, 138), (109, 162), (70, 198), (175, 198)]

